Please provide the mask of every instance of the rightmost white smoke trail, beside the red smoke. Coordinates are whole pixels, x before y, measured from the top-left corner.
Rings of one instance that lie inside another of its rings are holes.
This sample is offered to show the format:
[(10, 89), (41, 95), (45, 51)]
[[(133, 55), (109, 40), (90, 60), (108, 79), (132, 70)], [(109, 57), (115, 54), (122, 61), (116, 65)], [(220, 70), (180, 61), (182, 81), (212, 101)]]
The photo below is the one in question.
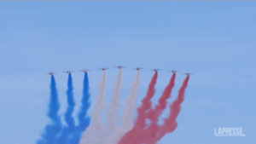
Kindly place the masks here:
[(133, 83), (131, 84), (130, 94), (127, 96), (127, 98), (125, 100), (125, 108), (124, 108), (123, 115), (122, 115), (122, 123), (118, 127), (118, 129), (116, 129), (113, 132), (113, 135), (108, 137), (108, 141), (106, 143), (109, 143), (109, 144), (117, 143), (119, 141), (119, 139), (123, 135), (125, 135), (125, 133), (127, 131), (132, 129), (132, 126), (133, 126), (132, 114), (137, 107), (136, 98), (137, 98), (139, 77), (140, 77), (140, 72), (137, 71), (137, 75), (134, 78)]

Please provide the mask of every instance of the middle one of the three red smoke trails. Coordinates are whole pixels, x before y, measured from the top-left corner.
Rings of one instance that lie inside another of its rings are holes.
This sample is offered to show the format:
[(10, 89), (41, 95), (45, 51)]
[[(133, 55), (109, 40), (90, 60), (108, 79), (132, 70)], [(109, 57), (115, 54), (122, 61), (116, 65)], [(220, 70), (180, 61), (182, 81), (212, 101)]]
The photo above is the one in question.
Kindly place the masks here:
[(150, 143), (152, 139), (154, 139), (158, 133), (158, 121), (159, 117), (162, 112), (166, 109), (167, 100), (171, 97), (172, 89), (174, 87), (176, 73), (173, 72), (172, 78), (169, 81), (169, 84), (166, 86), (163, 94), (161, 95), (160, 99), (158, 100), (158, 104), (154, 107), (154, 109), (150, 109), (147, 112), (147, 118), (149, 118), (150, 125), (146, 130), (143, 131), (143, 136), (146, 137), (145, 141), (141, 141), (141, 143)]

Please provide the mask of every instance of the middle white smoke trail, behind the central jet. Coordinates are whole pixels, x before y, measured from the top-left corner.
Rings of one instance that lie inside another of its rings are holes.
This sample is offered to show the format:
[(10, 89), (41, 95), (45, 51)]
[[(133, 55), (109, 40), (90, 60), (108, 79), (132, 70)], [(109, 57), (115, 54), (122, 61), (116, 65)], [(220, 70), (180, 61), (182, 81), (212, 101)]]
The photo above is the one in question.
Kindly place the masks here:
[(107, 124), (102, 129), (102, 131), (98, 131), (97, 137), (102, 137), (98, 139), (97, 143), (106, 143), (107, 137), (113, 133), (113, 130), (116, 129), (119, 122), (119, 107), (120, 101), (119, 96), (121, 95), (121, 84), (122, 84), (122, 70), (119, 69), (118, 76), (116, 78), (113, 95), (111, 97), (110, 104), (107, 109)]

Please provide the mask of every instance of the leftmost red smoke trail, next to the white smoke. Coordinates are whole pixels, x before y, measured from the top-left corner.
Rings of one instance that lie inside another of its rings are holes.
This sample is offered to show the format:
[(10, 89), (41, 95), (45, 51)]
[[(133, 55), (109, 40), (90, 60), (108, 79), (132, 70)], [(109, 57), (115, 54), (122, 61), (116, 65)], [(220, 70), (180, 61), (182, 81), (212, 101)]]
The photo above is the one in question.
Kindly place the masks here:
[(148, 85), (147, 95), (142, 101), (142, 106), (137, 108), (137, 120), (129, 132), (127, 132), (119, 141), (119, 144), (134, 143), (137, 144), (143, 139), (143, 129), (147, 126), (146, 124), (146, 111), (151, 107), (151, 98), (154, 96), (154, 85), (156, 84), (157, 72), (154, 72), (154, 76)]

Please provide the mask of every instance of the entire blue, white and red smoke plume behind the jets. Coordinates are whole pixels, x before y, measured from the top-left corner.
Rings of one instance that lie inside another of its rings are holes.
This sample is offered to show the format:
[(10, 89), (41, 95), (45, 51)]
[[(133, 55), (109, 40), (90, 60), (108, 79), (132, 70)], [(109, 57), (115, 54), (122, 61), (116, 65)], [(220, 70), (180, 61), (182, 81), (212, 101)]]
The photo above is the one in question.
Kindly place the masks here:
[[(173, 72), (172, 78), (166, 85), (158, 104), (152, 107), (151, 99), (154, 96), (154, 85), (157, 82), (158, 72), (154, 72), (148, 84), (148, 91), (143, 98), (142, 104), (137, 108), (137, 92), (140, 72), (131, 84), (130, 94), (125, 99), (124, 111), (119, 120), (119, 109), (121, 108), (119, 97), (121, 95), (122, 71), (119, 69), (111, 101), (107, 108), (106, 124), (102, 119), (102, 112), (105, 107), (106, 72), (103, 71), (102, 79), (99, 84), (98, 95), (95, 107), (92, 109), (90, 117), (87, 116), (90, 108), (90, 89), (88, 73), (84, 73), (84, 88), (81, 100), (81, 107), (78, 114), (78, 124), (75, 124), (73, 111), (75, 102), (73, 98), (73, 80), (69, 73), (67, 79), (67, 111), (64, 113), (66, 124), (61, 124), (58, 116), (60, 104), (58, 101), (55, 78), (51, 76), (50, 101), (48, 117), (50, 124), (45, 126), (42, 139), (37, 144), (155, 144), (167, 133), (171, 133), (177, 128), (177, 116), (181, 111), (181, 104), (184, 100), (185, 89), (189, 82), (187, 76), (181, 88), (178, 90), (177, 99), (170, 105), (170, 113), (164, 119), (163, 124), (159, 125), (160, 115), (167, 107), (167, 100), (171, 97), (174, 87), (176, 73)], [(136, 119), (133, 119), (134, 112), (137, 112)]]

